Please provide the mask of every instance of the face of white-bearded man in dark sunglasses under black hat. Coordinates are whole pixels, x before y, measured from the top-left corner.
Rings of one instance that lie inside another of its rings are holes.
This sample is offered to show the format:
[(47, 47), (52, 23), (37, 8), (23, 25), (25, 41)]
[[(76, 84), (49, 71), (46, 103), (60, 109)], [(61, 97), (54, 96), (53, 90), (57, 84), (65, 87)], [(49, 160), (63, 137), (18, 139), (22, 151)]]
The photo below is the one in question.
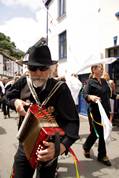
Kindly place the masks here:
[[(30, 68), (29, 69), (29, 76), (31, 77), (31, 80), (33, 82), (33, 85), (35, 87), (42, 87), (46, 84), (49, 75), (50, 75), (50, 68), (49, 67), (44, 67), (44, 69), (40, 68)], [(34, 70), (33, 70), (34, 69)]]

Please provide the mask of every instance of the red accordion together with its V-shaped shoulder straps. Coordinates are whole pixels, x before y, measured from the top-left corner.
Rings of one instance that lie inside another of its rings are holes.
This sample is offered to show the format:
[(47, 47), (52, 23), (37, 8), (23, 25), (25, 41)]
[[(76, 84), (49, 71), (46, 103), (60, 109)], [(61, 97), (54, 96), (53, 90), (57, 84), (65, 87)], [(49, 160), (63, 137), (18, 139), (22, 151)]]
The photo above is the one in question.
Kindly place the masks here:
[(57, 150), (55, 158), (59, 155), (60, 137), (64, 136), (65, 133), (57, 124), (54, 116), (52, 117), (52, 111), (48, 111), (45, 105), (63, 82), (59, 81), (55, 84), (42, 104), (38, 99), (30, 78), (27, 78), (27, 83), (36, 104), (31, 104), (28, 108), (22, 125), (17, 133), (17, 138), (23, 145), (29, 163), (33, 168), (36, 168), (39, 164), (36, 151), (39, 145), (43, 146), (44, 140), (57, 143), (55, 144), (55, 150)]

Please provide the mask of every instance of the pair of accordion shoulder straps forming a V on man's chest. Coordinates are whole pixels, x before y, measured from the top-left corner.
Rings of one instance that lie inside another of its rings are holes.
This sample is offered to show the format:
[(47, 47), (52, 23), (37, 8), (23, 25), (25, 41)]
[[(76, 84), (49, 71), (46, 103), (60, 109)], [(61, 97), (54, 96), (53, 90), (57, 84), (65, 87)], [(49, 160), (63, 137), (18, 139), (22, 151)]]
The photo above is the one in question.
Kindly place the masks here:
[(40, 102), (39, 98), (38, 98), (38, 95), (33, 87), (33, 84), (32, 84), (32, 81), (30, 79), (30, 77), (26, 77), (27, 79), (27, 84), (28, 84), (28, 87), (36, 101), (36, 103), (39, 105), (39, 106), (42, 106), (42, 105), (46, 105), (47, 102), (50, 100), (50, 98), (54, 95), (54, 93), (58, 90), (58, 88), (64, 83), (62, 81), (58, 81), (55, 86), (52, 88), (52, 90), (50, 91), (48, 97), (43, 101), (43, 103)]

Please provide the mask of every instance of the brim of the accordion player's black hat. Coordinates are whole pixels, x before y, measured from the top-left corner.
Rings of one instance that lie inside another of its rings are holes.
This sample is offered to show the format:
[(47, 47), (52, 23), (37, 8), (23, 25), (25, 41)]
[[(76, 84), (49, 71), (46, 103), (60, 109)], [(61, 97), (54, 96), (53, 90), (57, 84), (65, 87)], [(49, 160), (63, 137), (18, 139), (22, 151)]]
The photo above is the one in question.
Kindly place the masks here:
[(57, 64), (58, 61), (52, 61), (51, 63), (47, 63), (47, 64), (40, 64), (40, 63), (37, 63), (37, 62), (30, 62), (30, 61), (22, 61), (22, 64), (25, 64), (25, 65), (30, 65), (30, 66), (51, 66), (51, 65), (54, 65), (54, 64)]

